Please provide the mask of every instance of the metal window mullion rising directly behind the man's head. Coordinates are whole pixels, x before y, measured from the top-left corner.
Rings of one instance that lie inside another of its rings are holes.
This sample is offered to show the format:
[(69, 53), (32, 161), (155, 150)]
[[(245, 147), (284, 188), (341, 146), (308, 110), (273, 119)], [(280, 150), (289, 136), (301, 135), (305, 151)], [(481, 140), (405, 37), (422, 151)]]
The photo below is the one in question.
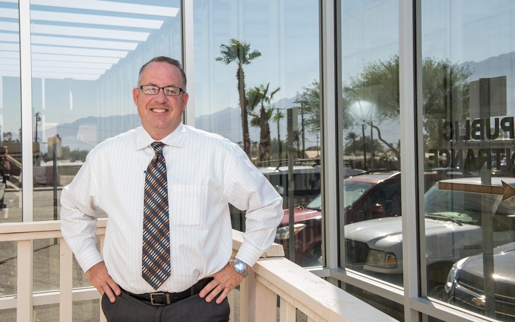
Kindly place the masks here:
[(184, 124), (195, 126), (195, 69), (193, 39), (193, 1), (181, 1), (182, 66), (186, 73), (187, 92), (190, 94), (185, 111)]

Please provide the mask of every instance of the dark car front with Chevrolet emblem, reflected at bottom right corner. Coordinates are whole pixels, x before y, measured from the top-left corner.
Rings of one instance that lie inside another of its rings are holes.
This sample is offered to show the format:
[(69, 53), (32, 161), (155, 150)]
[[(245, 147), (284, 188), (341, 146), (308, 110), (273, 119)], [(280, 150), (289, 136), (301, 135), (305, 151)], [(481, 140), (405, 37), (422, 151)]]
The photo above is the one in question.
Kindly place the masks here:
[[(495, 316), (499, 321), (515, 320), (515, 242), (498, 246), (493, 251)], [(445, 292), (448, 302), (485, 315), (486, 294), (483, 274), (483, 254), (466, 257), (451, 268)]]

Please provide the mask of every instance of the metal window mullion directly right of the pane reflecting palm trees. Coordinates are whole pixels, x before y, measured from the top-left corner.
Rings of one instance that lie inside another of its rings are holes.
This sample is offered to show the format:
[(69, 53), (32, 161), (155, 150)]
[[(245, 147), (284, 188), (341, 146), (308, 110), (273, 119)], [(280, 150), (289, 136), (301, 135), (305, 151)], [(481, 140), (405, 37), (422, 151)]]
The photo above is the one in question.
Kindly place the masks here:
[[(320, 103), (321, 103), (321, 155), (323, 198), (323, 243), (325, 263), (329, 268), (338, 267), (338, 160), (341, 154), (338, 117), (335, 55), (335, 4), (320, 2)], [(336, 282), (336, 281), (333, 281)]]

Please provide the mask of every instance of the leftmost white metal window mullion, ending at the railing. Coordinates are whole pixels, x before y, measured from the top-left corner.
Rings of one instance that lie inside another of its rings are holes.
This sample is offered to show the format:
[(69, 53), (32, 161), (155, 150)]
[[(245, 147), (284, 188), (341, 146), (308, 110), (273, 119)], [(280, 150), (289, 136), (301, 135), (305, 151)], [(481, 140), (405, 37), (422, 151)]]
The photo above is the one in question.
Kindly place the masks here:
[(20, 85), (22, 102), (22, 221), (33, 220), (32, 182), (32, 66), (30, 0), (20, 0)]

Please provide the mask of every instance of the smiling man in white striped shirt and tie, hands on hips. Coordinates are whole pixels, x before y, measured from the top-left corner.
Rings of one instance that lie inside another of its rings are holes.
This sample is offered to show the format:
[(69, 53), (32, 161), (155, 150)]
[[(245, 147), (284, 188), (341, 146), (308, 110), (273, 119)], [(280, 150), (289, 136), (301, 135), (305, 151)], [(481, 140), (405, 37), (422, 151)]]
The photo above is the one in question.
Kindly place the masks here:
[[(185, 89), (177, 60), (143, 65), (132, 90), (142, 127), (98, 144), (62, 192), (63, 236), (110, 321), (227, 321), (227, 294), (283, 216), (281, 197), (241, 148), (181, 124)], [(234, 262), (229, 202), (247, 210)], [(103, 258), (99, 210), (108, 215)]]

